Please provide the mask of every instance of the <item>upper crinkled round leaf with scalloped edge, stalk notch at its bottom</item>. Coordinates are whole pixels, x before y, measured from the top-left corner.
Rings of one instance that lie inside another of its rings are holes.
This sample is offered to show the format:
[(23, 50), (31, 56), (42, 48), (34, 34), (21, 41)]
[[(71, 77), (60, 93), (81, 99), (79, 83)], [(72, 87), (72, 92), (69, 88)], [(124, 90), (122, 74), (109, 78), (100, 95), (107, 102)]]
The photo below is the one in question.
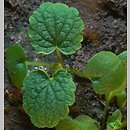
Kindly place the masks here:
[(29, 23), (28, 34), (38, 53), (49, 54), (58, 48), (69, 55), (81, 48), (84, 24), (75, 8), (44, 2), (30, 16)]

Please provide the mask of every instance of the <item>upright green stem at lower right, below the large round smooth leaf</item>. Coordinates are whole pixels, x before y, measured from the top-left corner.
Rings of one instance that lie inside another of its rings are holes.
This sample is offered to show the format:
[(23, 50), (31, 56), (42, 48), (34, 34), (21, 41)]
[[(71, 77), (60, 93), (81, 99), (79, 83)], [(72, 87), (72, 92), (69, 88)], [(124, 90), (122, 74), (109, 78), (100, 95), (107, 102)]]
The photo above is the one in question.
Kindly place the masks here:
[(105, 105), (105, 108), (104, 108), (104, 117), (102, 119), (102, 124), (101, 124), (101, 129), (100, 130), (104, 130), (105, 128), (105, 123), (106, 123), (106, 118), (107, 118), (107, 113), (108, 113), (108, 106), (109, 106), (109, 96), (106, 97), (106, 105)]

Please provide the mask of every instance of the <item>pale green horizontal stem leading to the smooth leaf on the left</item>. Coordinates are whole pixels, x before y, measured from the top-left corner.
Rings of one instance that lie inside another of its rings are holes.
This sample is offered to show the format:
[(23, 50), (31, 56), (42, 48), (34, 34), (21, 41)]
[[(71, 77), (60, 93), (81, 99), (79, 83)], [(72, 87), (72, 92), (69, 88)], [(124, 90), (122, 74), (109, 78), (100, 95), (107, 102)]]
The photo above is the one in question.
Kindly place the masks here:
[(54, 63), (52, 64), (52, 63), (44, 63), (44, 62), (37, 62), (37, 61), (26, 61), (26, 65), (53, 67)]

